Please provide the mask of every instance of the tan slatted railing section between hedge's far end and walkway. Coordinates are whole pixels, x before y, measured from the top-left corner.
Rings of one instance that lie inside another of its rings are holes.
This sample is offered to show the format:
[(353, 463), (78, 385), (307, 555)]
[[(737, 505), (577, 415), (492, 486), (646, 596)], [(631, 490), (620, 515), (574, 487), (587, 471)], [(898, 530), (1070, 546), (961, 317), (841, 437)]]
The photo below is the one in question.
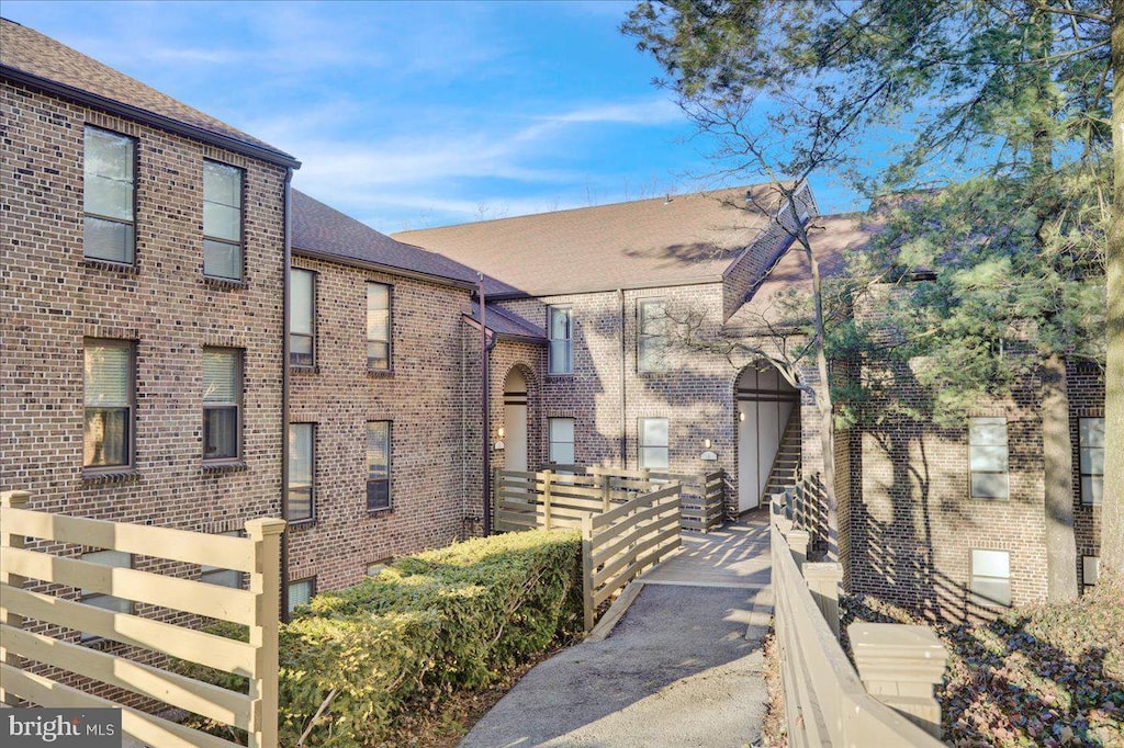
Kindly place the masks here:
[(670, 483), (581, 523), (586, 630), (598, 605), (679, 548), (680, 486)]

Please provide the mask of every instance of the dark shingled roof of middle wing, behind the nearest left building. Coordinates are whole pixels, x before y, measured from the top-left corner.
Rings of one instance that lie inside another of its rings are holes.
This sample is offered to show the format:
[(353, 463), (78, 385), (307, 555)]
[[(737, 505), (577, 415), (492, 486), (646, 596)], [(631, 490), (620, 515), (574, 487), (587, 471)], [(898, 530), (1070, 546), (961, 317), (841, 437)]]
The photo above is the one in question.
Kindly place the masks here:
[(292, 191), (293, 254), (383, 270), (456, 286), (477, 284), (477, 273), (459, 262), (396, 241), (386, 234)]

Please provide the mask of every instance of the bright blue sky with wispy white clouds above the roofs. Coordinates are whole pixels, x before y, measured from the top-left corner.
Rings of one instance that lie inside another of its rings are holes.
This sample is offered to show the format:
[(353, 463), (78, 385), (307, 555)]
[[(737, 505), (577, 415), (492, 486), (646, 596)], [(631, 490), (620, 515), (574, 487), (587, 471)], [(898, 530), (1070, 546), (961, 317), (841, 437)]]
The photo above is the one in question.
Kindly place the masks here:
[[(393, 232), (752, 181), (617, 27), (629, 2), (22, 2), (60, 39), (303, 162), (293, 184)], [(813, 186), (850, 210), (836, 180)]]

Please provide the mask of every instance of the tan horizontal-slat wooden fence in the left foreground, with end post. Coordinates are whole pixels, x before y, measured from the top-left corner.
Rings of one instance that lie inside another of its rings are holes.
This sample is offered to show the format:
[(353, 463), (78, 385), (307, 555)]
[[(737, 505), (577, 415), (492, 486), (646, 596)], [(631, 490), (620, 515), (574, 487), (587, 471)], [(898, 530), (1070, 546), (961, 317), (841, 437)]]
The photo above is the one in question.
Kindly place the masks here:
[[(121, 708), (21, 668), (22, 660), (69, 671), (246, 730), (251, 748), (278, 744), (279, 519), (246, 522), (246, 538), (187, 532), (67, 517), (26, 509), (27, 492), (0, 499), (0, 699), (56, 708), (120, 708), (124, 732), (161, 748), (229, 748), (236, 745), (138, 710)], [(250, 589), (164, 576), (55, 556), (26, 547), (34, 538), (118, 550), (187, 564), (234, 569), (248, 575)], [(24, 590), (27, 580), (80, 587), (197, 615), (232, 621), (250, 629), (236, 641), (163, 621), (115, 612), (60, 596)], [(25, 630), (25, 619), (149, 649), (245, 676), (248, 693), (228, 691), (176, 673), (115, 657), (61, 638)]]

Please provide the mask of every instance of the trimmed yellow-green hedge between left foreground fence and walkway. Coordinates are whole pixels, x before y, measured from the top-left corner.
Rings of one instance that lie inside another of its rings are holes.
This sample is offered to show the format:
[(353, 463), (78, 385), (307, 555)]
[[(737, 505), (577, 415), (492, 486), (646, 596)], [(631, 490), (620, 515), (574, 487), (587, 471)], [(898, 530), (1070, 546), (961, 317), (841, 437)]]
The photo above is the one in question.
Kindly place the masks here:
[(378, 744), (400, 714), (488, 685), (580, 621), (575, 532), (478, 538), (401, 558), (317, 595), (281, 628), (281, 745), (296, 744), (333, 692), (305, 745)]

